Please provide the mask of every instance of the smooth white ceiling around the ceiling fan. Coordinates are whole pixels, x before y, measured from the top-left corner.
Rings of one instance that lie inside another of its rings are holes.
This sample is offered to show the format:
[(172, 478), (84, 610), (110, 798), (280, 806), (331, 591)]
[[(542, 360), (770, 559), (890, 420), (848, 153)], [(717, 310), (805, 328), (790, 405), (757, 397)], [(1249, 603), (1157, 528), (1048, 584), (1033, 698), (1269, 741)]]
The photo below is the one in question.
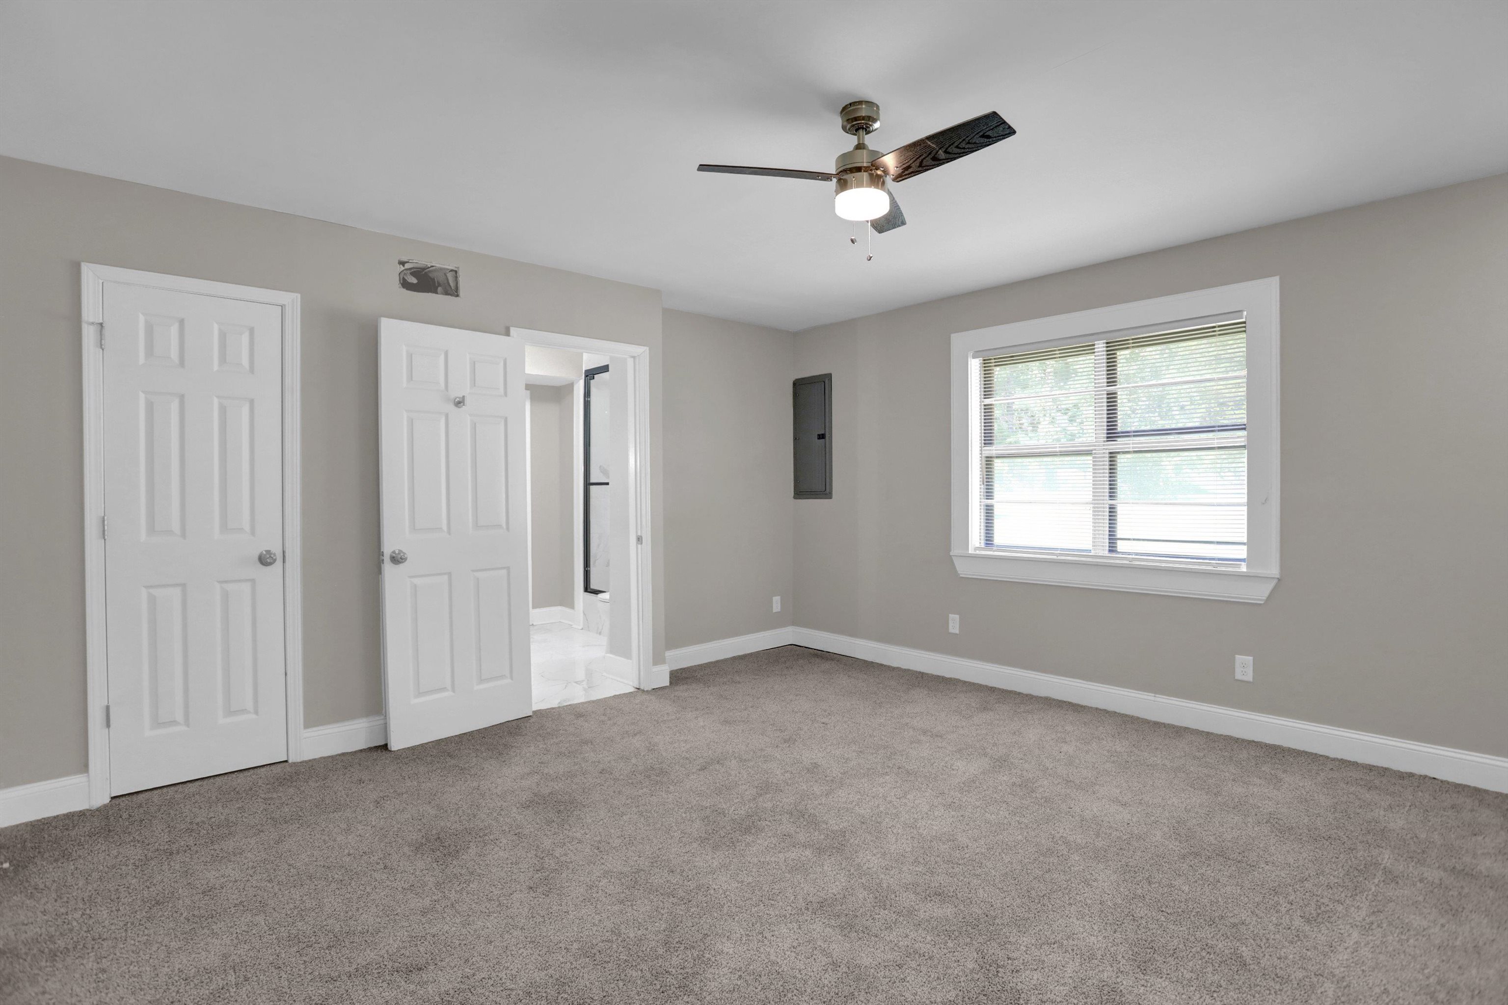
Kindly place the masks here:
[[(783, 328), (1508, 170), (1508, 3), (30, 3), (0, 152), (620, 279)], [(837, 110), (900, 146), (866, 262)]]

